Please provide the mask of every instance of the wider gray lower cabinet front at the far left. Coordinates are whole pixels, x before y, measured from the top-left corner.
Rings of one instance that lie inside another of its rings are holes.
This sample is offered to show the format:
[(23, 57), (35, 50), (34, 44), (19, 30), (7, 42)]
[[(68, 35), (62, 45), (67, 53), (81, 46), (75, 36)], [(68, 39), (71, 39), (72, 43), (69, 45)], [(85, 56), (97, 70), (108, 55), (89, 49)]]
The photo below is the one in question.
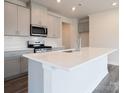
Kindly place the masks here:
[(4, 60), (4, 77), (8, 78), (20, 74), (20, 57), (10, 56)]

